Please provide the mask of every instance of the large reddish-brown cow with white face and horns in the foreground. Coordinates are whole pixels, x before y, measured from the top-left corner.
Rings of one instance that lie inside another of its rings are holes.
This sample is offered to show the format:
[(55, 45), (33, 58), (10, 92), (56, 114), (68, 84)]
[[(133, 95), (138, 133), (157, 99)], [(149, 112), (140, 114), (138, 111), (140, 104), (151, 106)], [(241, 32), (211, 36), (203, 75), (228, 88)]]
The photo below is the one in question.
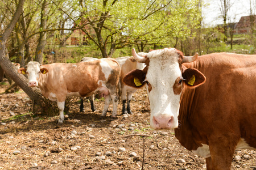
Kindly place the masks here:
[(207, 169), (230, 169), (234, 151), (256, 148), (256, 56), (184, 56), (175, 48), (132, 50), (143, 70), (123, 82), (146, 85), (150, 127), (175, 129), (182, 146), (203, 156)]

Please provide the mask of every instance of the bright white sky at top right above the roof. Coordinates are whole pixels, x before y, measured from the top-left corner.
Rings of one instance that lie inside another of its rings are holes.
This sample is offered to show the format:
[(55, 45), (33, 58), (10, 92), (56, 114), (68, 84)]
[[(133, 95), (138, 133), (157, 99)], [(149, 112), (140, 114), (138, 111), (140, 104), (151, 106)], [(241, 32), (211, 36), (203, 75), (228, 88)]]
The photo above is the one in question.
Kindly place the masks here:
[[(217, 24), (223, 24), (223, 18), (220, 12), (220, 1), (224, 0), (204, 0), (206, 7), (203, 7), (203, 24), (204, 27), (215, 27)], [(241, 16), (250, 15), (250, 0), (226, 0), (230, 1), (232, 6), (228, 12), (230, 20), (232, 22), (239, 22)], [(253, 1), (254, 14), (255, 14), (255, 2)], [(228, 22), (227, 22), (228, 23)]]

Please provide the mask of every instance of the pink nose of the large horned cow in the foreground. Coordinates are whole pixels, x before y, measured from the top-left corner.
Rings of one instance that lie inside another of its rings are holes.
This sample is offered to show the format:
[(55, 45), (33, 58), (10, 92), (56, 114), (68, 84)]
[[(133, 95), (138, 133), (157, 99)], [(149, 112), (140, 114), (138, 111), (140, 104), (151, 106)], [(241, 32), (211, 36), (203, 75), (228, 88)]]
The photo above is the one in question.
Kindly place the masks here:
[(152, 128), (154, 129), (171, 129), (174, 124), (174, 117), (166, 115), (153, 116), (152, 122)]

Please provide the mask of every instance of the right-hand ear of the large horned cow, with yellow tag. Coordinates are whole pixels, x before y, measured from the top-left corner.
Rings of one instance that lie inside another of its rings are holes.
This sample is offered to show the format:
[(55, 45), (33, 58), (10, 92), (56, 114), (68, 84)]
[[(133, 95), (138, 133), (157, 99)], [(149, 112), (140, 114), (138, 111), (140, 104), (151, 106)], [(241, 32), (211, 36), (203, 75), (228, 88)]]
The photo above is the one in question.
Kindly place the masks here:
[(183, 81), (187, 87), (195, 88), (204, 84), (206, 78), (203, 73), (194, 68), (189, 68), (182, 73)]

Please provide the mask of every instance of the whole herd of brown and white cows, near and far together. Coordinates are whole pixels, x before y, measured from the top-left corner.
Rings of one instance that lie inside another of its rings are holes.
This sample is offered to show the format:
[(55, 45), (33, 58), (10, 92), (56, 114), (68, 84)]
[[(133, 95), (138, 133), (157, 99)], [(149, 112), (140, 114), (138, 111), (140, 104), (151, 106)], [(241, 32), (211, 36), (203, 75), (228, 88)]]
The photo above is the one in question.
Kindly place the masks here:
[(45, 97), (57, 101), (60, 123), (67, 96), (92, 96), (95, 110), (93, 95), (98, 93), (105, 97), (101, 116), (112, 100), (115, 117), (118, 89), (122, 113), (131, 113), (131, 95), (146, 86), (151, 128), (175, 129), (181, 145), (206, 159), (207, 169), (230, 169), (235, 150), (255, 150), (255, 55), (184, 56), (174, 48), (138, 54), (133, 49), (132, 54), (83, 58), (79, 63), (29, 62), (18, 72), (28, 74), (28, 86), (38, 86)]

